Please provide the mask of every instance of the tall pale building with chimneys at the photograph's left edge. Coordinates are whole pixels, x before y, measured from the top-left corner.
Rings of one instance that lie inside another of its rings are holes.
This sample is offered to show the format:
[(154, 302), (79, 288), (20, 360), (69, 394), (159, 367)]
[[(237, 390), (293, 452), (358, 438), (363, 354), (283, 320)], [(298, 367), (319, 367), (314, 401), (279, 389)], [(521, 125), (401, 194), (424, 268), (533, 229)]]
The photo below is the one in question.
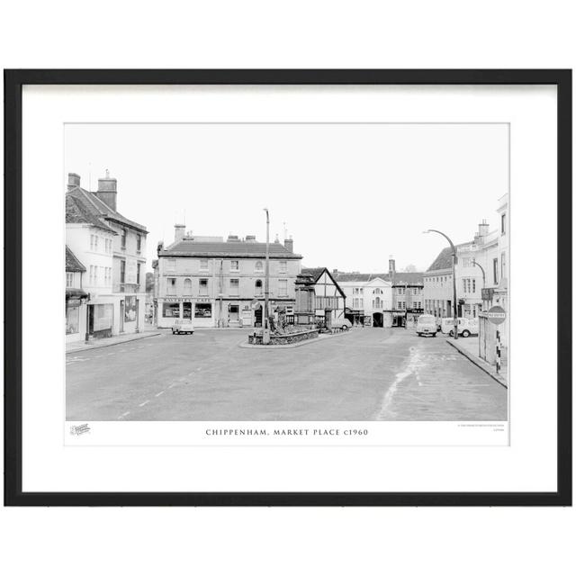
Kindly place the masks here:
[(117, 183), (106, 174), (98, 190), (68, 174), (67, 246), (85, 266), (89, 338), (139, 332), (144, 326), (146, 228), (116, 210)]

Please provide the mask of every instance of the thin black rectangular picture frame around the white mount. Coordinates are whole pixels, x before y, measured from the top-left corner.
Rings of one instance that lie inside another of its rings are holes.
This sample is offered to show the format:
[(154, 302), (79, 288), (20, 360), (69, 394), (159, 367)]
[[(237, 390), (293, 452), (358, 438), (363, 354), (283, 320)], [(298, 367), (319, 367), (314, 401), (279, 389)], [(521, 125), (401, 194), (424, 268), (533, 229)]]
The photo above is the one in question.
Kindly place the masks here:
[[(557, 477), (554, 492), (23, 492), (23, 85), (555, 85), (557, 88)], [(4, 505), (571, 506), (572, 70), (23, 69), (4, 70)]]

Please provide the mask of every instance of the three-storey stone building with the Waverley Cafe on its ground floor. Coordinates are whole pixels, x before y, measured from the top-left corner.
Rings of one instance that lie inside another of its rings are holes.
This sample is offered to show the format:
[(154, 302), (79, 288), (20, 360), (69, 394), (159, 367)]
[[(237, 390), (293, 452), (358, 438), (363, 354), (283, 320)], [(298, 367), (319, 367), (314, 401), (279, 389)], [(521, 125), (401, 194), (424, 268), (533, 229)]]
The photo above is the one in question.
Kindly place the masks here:
[[(292, 238), (269, 244), (269, 310), (276, 317), (293, 314), (301, 261)], [(262, 326), (266, 243), (255, 236), (192, 236), (178, 224), (174, 242), (158, 244), (153, 268), (158, 328), (171, 328), (176, 320), (204, 328)]]

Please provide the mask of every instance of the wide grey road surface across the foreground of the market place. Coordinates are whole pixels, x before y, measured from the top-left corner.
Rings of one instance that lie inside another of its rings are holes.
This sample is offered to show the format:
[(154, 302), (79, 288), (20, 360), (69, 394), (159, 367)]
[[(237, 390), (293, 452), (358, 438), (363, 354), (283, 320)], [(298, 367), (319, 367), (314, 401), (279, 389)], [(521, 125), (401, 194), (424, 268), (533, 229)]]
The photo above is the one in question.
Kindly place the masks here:
[(355, 329), (290, 350), (197, 330), (67, 355), (68, 420), (506, 420), (508, 391), (446, 344)]

